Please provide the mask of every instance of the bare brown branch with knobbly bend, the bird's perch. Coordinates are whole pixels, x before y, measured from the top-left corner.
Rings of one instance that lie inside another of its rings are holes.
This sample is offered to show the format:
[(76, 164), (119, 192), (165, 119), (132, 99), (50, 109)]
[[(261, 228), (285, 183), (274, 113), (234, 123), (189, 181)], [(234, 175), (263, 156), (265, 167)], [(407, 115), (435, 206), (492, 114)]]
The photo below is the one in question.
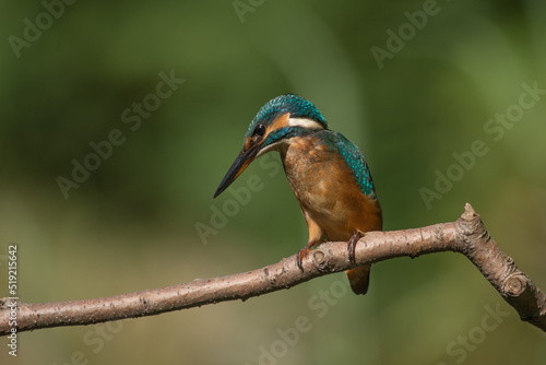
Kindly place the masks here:
[[(523, 321), (546, 331), (546, 295), (500, 250), (479, 215), (467, 203), (456, 222), (423, 228), (367, 233), (356, 247), (357, 266), (395, 257), (453, 251), (466, 256)], [(154, 316), (289, 289), (352, 266), (346, 243), (325, 243), (304, 260), (295, 256), (262, 269), (142, 292), (86, 301), (29, 304), (17, 302), (17, 332)], [(0, 298), (0, 335), (10, 333), (11, 301)]]

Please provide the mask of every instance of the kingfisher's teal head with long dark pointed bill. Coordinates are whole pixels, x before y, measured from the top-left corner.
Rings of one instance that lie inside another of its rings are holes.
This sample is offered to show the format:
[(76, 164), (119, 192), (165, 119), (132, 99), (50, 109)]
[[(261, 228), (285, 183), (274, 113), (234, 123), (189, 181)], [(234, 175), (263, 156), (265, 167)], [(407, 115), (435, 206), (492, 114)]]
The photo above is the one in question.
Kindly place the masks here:
[(256, 157), (278, 149), (302, 131), (328, 129), (312, 103), (294, 95), (277, 96), (260, 109), (245, 133), (242, 150), (214, 193), (219, 196)]

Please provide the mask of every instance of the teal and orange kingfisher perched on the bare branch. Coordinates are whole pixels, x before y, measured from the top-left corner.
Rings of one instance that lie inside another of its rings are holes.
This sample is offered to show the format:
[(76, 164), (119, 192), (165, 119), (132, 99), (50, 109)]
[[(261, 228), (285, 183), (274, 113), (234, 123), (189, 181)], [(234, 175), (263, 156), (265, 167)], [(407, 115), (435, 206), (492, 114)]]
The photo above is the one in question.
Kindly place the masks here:
[[(360, 150), (329, 129), (317, 107), (295, 94), (277, 96), (256, 115), (245, 133), (242, 150), (219, 184), (219, 196), (252, 161), (277, 151), (288, 182), (301, 208), (309, 240), (296, 255), (302, 260), (313, 246), (347, 242), (355, 264), (355, 248), (366, 232), (382, 229), (381, 207)], [(366, 294), (370, 264), (345, 271), (355, 294)]]

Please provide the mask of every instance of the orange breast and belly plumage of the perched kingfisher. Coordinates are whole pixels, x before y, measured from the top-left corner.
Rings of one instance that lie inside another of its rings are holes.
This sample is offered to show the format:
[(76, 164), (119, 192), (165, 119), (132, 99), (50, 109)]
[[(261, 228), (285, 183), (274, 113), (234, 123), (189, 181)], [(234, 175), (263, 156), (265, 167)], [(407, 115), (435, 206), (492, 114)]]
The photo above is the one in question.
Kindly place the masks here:
[(348, 240), (355, 231), (382, 228), (379, 202), (360, 190), (336, 151), (307, 136), (293, 139), (282, 158), (310, 239)]

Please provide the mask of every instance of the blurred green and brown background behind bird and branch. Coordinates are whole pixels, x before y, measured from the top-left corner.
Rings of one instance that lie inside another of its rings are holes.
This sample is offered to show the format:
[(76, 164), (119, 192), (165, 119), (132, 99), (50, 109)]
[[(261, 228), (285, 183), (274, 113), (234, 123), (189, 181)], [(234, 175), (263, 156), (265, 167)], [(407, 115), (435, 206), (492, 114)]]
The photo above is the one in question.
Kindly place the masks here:
[[(388, 31), (424, 7), (436, 13), (380, 67), (372, 47), (388, 50)], [(544, 1), (78, 1), (51, 24), (38, 1), (0, 8), (1, 296), (13, 243), (19, 294), (32, 303), (242, 272), (297, 252), (307, 227), (277, 155), (234, 184), (258, 177), (261, 189), (211, 222), (234, 201), (212, 195), (248, 123), (287, 92), (360, 146), (385, 229), (453, 221), (471, 202), (546, 289), (546, 95), (498, 140), (484, 130), (519, 103), (523, 83), (546, 89)], [(14, 51), (10, 36), (24, 39), (36, 16), (49, 26)], [(185, 82), (138, 128), (124, 122), (133, 103), (153, 102), (162, 72)], [(72, 161), (116, 129), (123, 143), (67, 199), (59, 176), (72, 179)], [(435, 189), (437, 170), (476, 140), (487, 154), (427, 207), (420, 189)], [(491, 331), (482, 328), (488, 310), (503, 314)], [(280, 331), (300, 317), (309, 330), (283, 345)], [(20, 333), (16, 358), (0, 341), (0, 363), (544, 364), (545, 340), (464, 257), (439, 254), (377, 264), (364, 297), (335, 274), (245, 303)]]

